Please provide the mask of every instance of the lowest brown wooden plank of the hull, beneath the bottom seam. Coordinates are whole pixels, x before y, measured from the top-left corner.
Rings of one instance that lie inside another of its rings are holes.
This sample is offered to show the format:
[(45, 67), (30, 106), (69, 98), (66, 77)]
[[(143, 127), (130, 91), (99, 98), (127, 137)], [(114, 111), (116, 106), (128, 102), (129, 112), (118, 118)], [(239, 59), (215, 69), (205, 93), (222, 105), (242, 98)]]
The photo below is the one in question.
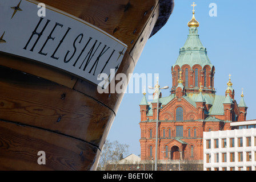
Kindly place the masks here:
[[(89, 170), (98, 148), (78, 139), (0, 121), (0, 170)], [(46, 154), (39, 165), (38, 151)]]

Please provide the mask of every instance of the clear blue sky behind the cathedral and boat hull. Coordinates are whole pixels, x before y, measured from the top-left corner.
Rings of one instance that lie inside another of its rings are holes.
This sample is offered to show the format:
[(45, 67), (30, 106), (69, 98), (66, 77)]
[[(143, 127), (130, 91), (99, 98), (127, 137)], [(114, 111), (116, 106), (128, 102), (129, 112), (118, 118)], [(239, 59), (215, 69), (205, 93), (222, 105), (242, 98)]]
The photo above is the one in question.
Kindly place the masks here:
[[(159, 85), (171, 87), (171, 66), (175, 63), (181, 48), (189, 34), (187, 22), (192, 18), (191, 0), (176, 0), (173, 14), (168, 22), (151, 37), (147, 43), (133, 73), (159, 73)], [(217, 5), (217, 16), (209, 16), (210, 3)], [(247, 120), (256, 119), (255, 98), (255, 9), (256, 1), (197, 0), (195, 1), (195, 19), (199, 22), (198, 34), (211, 64), (215, 67), (214, 88), (217, 95), (224, 95), (231, 74), (235, 90), (235, 100), (239, 103), (241, 92), (245, 95)], [(155, 78), (156, 79), (156, 78)], [(110, 142), (129, 144), (129, 154), (139, 155), (141, 115), (139, 103), (141, 93), (126, 93), (114, 119), (107, 139)], [(162, 96), (169, 96), (170, 90), (162, 90)], [(146, 90), (149, 92), (149, 90)], [(147, 95), (146, 95), (147, 96)], [(150, 100), (148, 100), (150, 101)]]

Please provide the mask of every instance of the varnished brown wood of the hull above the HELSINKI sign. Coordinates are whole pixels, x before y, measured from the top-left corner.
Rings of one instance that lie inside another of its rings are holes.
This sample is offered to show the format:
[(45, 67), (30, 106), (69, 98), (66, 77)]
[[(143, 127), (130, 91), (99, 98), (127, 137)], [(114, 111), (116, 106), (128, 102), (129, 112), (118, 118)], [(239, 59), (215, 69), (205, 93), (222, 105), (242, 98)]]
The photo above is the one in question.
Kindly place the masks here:
[(157, 0), (62, 1), (42, 0), (46, 5), (77, 16), (127, 44), (130, 52), (144, 30)]

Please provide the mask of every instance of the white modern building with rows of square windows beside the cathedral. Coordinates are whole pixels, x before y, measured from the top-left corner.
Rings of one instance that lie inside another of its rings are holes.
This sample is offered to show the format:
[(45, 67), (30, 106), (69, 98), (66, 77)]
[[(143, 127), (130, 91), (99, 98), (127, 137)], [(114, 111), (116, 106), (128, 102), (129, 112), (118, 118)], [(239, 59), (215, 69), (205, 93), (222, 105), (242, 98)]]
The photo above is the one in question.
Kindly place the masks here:
[(256, 120), (230, 126), (234, 130), (203, 132), (204, 171), (256, 171)]

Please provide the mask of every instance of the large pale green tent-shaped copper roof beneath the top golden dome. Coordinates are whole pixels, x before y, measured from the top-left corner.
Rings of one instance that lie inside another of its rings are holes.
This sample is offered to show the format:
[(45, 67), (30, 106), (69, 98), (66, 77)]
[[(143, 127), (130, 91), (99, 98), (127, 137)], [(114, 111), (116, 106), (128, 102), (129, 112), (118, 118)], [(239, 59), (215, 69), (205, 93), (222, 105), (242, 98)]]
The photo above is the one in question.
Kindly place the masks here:
[(183, 47), (179, 49), (179, 56), (176, 63), (173, 65), (179, 65), (181, 68), (182, 65), (189, 64), (192, 68), (193, 65), (199, 64), (203, 68), (205, 65), (213, 67), (209, 57), (207, 56), (206, 48), (203, 47), (199, 35), (197, 34), (197, 27), (189, 28), (189, 35)]

